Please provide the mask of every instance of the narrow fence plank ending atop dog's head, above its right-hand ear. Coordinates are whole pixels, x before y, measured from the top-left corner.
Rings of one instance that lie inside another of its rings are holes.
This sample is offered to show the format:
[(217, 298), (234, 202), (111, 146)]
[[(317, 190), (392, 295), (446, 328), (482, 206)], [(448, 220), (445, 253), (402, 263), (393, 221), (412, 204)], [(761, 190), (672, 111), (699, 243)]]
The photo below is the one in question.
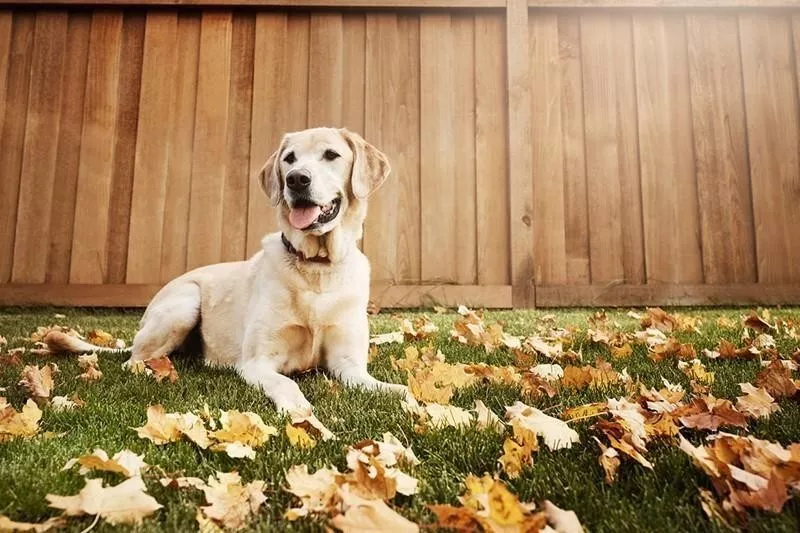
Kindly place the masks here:
[[(342, 117), (341, 126), (364, 133), (364, 87), (366, 65), (366, 17), (362, 13), (342, 16), (344, 42), (342, 55)], [(339, 124), (330, 124), (338, 126)]]

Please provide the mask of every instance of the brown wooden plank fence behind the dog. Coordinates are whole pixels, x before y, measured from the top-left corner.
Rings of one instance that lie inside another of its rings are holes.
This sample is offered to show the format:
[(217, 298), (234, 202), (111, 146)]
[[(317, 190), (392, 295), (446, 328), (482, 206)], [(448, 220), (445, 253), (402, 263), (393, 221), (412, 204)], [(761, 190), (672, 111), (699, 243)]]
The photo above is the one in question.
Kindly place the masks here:
[(316, 125), (392, 163), (380, 305), (800, 303), (790, 0), (37, 3), (0, 8), (0, 305), (247, 257)]

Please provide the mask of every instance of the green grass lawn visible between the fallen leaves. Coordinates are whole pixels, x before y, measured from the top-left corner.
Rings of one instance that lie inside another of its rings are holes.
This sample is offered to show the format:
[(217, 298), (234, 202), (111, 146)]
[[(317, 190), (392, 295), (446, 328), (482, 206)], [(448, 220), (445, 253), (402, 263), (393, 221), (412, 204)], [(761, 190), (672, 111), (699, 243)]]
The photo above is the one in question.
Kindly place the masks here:
[[(612, 320), (624, 328), (638, 328), (636, 321), (627, 318), (624, 311), (610, 312)], [(66, 318), (55, 319), (60, 312)], [(701, 316), (702, 333), (679, 333), (682, 342), (695, 345), (698, 353), (703, 348), (715, 347), (722, 338), (738, 343), (739, 327), (720, 329), (715, 323), (718, 316), (737, 320), (745, 313), (741, 309), (700, 310), (682, 312)], [(788, 318), (800, 323), (800, 309), (771, 310), (774, 317)], [(411, 316), (413, 313), (402, 313)], [(585, 331), (590, 311), (522, 311), (487, 313), (486, 319), (502, 320), (506, 331), (525, 335), (533, 332), (546, 314), (555, 315), (558, 325), (577, 325)], [(25, 344), (25, 338), (39, 325), (60, 323), (80, 327), (84, 331), (102, 328), (130, 342), (135, 333), (138, 311), (87, 311), (87, 310), (25, 310), (0, 311), (0, 335), (9, 341), (9, 347)], [(449, 340), (449, 330), (454, 314), (431, 315), (440, 332), (434, 343), (441, 348), (449, 362), (487, 362), (508, 364), (513, 356), (505, 349), (492, 354), (482, 348), (468, 347)], [(373, 332), (396, 328), (391, 316), (381, 314), (371, 319)], [(582, 350), (584, 359), (592, 361), (598, 356), (609, 358), (607, 348), (587, 343), (579, 335), (576, 350)], [(797, 343), (788, 338), (778, 338), (782, 353), (792, 353)], [(403, 382), (401, 372), (392, 369), (391, 357), (402, 357), (404, 346), (381, 346), (378, 357), (371, 363), (372, 373), (380, 379)], [(398, 496), (394, 504), (398, 510), (418, 522), (430, 522), (432, 516), (425, 505), (430, 503), (457, 503), (463, 491), (463, 479), (470, 473), (497, 472), (497, 459), (501, 455), (503, 436), (475, 429), (447, 428), (422, 435), (414, 431), (414, 422), (406, 416), (396, 399), (390, 396), (367, 393), (362, 390), (339, 387), (321, 373), (308, 373), (297, 378), (301, 389), (314, 404), (317, 416), (331, 429), (339, 440), (320, 443), (311, 450), (292, 447), (284, 434), (272, 439), (258, 450), (254, 461), (231, 459), (220, 453), (203, 451), (191, 442), (178, 442), (156, 446), (137, 437), (131, 430), (145, 421), (148, 405), (161, 403), (167, 411), (186, 411), (208, 403), (213, 408), (255, 411), (267, 424), (283, 428), (284, 422), (272, 404), (254, 388), (246, 385), (233, 372), (205, 368), (196, 355), (173, 357), (180, 379), (175, 384), (157, 384), (151, 378), (134, 376), (121, 369), (125, 356), (101, 358), (104, 377), (94, 383), (76, 379), (80, 373), (74, 357), (58, 357), (61, 373), (57, 376), (56, 395), (77, 393), (87, 402), (83, 409), (56, 413), (44, 409), (43, 431), (64, 433), (58, 438), (33, 438), (0, 444), (0, 514), (20, 521), (39, 521), (57, 513), (47, 507), (45, 495), (75, 494), (84, 484), (77, 470), (62, 472), (64, 463), (72, 457), (91, 451), (95, 447), (113, 454), (123, 448), (143, 453), (151, 465), (158, 465), (168, 473), (207, 477), (219, 471), (237, 470), (245, 481), (263, 479), (267, 484), (268, 500), (252, 527), (258, 531), (322, 531), (322, 520), (305, 520), (294, 523), (282, 519), (284, 511), (292, 504), (292, 497), (282, 490), (286, 470), (295, 464), (305, 463), (310, 470), (333, 465), (345, 468), (344, 449), (348, 444), (364, 438), (380, 437), (391, 431), (410, 443), (422, 461), (413, 474), (420, 479), (420, 492), (414, 497)], [(51, 358), (25, 356), (25, 362), (43, 363)], [(648, 386), (660, 386), (661, 377), (682, 383), (688, 389), (686, 378), (674, 360), (653, 363), (646, 357), (643, 346), (634, 347), (634, 355), (624, 362), (612, 361), (615, 369), (627, 367), (631, 376)], [(717, 362), (706, 361), (708, 370), (716, 372), (712, 392), (719, 397), (734, 399), (740, 382), (752, 381), (759, 371), (757, 361)], [(25, 391), (17, 385), (21, 368), (0, 366), (0, 387), (7, 387), (8, 400), (19, 407), (26, 398)], [(622, 389), (608, 391), (562, 392), (552, 399), (533, 402), (522, 398), (520, 391), (510, 386), (477, 386), (457, 392), (453, 402), (470, 408), (475, 399), (482, 399), (495, 413), (504, 413), (504, 406), (522, 399), (540, 409), (558, 413), (561, 408), (589, 401), (620, 396)], [(781, 402), (782, 411), (769, 420), (750, 422), (750, 432), (762, 439), (779, 441), (783, 445), (800, 441), (800, 405), (796, 401)], [(571, 450), (549, 451), (542, 447), (535, 455), (533, 467), (508, 485), (523, 501), (549, 499), (556, 505), (574, 510), (589, 531), (715, 531), (703, 513), (698, 500), (698, 488), (711, 488), (706, 476), (690, 463), (677, 447), (667, 443), (654, 443), (647, 457), (654, 464), (648, 471), (638, 464), (623, 460), (619, 478), (614, 485), (606, 485), (597, 462), (598, 449), (591, 439), (591, 421), (578, 423), (576, 429), (581, 444)], [(684, 431), (695, 442), (698, 433)], [(142, 531), (191, 531), (196, 529), (195, 511), (202, 503), (202, 495), (194, 491), (174, 491), (162, 488), (156, 478), (158, 470), (146, 478), (148, 491), (164, 509), (144, 521)], [(502, 477), (502, 476), (501, 476)], [(116, 483), (118, 478), (108, 476)], [(505, 477), (502, 477), (505, 479)], [(752, 513), (748, 530), (778, 532), (800, 530), (800, 498), (795, 497), (779, 514)], [(92, 517), (69, 520), (68, 530), (80, 531), (89, 526)], [(112, 529), (102, 521), (95, 530)], [(123, 528), (124, 529), (124, 528)]]

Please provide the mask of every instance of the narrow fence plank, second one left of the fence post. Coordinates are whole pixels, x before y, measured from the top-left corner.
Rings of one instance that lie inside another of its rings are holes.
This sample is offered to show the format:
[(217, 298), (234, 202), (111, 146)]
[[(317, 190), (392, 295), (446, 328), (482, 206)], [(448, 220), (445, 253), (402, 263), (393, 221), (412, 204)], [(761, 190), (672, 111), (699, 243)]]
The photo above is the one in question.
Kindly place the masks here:
[(456, 281), (471, 285), (477, 280), (478, 246), (475, 220), (475, 16), (452, 16), (453, 84), (453, 164), (456, 235)]

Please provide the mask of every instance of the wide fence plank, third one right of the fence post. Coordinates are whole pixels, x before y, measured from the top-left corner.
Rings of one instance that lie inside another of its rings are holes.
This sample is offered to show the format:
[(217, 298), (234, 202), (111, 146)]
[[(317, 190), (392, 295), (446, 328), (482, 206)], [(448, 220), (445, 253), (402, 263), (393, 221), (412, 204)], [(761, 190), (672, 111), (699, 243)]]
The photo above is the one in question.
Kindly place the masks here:
[(593, 282), (644, 283), (631, 21), (581, 15)]

